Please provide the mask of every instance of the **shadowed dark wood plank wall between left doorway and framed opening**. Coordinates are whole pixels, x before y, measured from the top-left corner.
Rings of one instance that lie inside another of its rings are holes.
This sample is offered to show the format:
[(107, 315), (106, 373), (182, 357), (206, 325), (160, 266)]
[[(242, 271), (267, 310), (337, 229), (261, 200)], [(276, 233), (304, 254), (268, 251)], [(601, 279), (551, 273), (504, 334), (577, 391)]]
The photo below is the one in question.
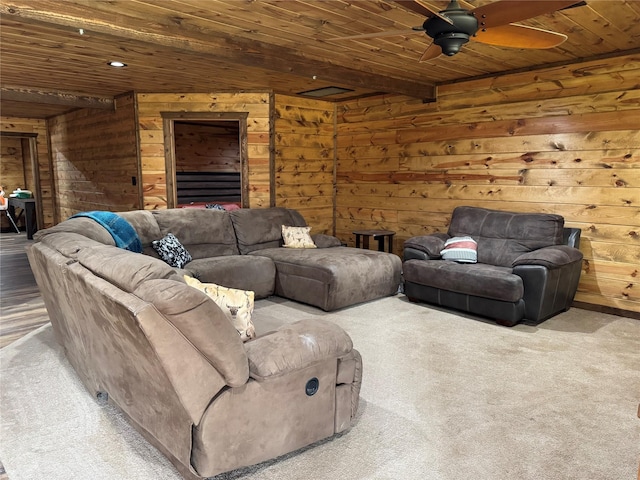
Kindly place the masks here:
[(133, 95), (115, 111), (83, 109), (49, 119), (58, 219), (91, 210), (139, 208)]

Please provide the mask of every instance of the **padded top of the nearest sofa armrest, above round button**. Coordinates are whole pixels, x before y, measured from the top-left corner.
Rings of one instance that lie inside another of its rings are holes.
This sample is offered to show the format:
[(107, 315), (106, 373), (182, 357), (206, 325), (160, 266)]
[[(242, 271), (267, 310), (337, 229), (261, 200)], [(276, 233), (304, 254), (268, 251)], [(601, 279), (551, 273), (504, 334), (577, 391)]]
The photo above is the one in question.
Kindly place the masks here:
[(300, 320), (244, 344), (249, 375), (266, 380), (286, 375), (353, 350), (347, 333), (324, 320)]

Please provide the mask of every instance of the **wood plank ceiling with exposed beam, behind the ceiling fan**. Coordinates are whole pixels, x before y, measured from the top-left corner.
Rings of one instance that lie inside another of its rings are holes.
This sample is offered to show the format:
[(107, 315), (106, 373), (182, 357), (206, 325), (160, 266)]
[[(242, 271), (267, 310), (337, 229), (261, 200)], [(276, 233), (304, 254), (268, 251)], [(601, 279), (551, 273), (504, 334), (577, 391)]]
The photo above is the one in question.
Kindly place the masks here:
[[(448, 4), (417, 1), (436, 10)], [(431, 39), (411, 31), (424, 16), (410, 6), (392, 0), (4, 0), (0, 114), (46, 118), (82, 106), (110, 108), (113, 96), (129, 91), (296, 95), (337, 86), (351, 91), (325, 99), (390, 92), (432, 100), (440, 84), (640, 55), (640, 0), (587, 0), (519, 22), (567, 35), (555, 48), (471, 41), (453, 57), (426, 62), (418, 60)], [(383, 32), (396, 34), (339, 39)], [(109, 60), (128, 66), (114, 69)]]

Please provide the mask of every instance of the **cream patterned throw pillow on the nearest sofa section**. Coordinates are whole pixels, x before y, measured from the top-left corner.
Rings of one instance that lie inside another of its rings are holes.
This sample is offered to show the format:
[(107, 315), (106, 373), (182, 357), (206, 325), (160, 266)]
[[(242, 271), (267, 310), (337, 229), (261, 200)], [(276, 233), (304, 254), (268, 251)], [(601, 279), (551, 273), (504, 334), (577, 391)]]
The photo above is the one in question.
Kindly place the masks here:
[(236, 327), (243, 342), (255, 338), (256, 329), (251, 320), (255, 298), (254, 292), (222, 287), (215, 283), (201, 283), (189, 275), (185, 275), (184, 280), (187, 285), (206, 293), (220, 307), (229, 321)]

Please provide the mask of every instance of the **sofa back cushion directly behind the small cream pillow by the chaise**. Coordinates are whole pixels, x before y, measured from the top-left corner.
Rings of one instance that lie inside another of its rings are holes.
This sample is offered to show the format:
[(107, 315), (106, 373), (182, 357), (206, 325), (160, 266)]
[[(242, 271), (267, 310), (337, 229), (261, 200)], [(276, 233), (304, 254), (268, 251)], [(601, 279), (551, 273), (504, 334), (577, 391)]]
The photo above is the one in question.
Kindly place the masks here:
[(235, 228), (240, 253), (282, 246), (282, 225), (305, 227), (296, 210), (282, 207), (241, 208), (229, 213)]

